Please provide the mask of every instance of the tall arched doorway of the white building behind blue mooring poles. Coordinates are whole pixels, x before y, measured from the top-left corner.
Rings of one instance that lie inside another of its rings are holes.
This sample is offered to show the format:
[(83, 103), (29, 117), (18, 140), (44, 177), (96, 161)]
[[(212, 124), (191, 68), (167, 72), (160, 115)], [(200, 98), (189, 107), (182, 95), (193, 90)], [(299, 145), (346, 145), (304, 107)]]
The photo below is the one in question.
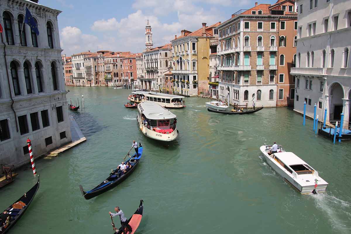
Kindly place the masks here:
[(329, 88), (329, 95), (329, 119), (334, 121), (340, 120), (340, 114), (343, 112), (343, 87), (337, 82), (333, 83)]

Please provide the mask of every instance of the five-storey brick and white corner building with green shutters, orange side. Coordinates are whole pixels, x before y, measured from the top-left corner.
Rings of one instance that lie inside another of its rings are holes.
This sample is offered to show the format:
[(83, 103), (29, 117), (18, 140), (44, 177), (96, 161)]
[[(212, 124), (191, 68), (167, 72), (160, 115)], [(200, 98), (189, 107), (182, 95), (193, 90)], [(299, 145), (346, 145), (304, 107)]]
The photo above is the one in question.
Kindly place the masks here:
[(295, 11), (289, 0), (256, 3), (217, 27), (220, 99), (248, 106), (292, 105)]

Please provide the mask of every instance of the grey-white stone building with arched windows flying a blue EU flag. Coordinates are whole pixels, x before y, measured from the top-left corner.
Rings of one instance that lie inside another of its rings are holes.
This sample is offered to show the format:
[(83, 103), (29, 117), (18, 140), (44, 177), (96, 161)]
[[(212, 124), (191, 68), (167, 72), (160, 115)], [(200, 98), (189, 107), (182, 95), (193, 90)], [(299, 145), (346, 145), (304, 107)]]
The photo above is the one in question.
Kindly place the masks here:
[[(38, 22), (39, 35), (25, 24), (25, 7)], [(34, 1), (2, 1), (0, 23), (0, 163), (30, 162), (71, 141), (62, 73), (57, 16), (61, 11)]]

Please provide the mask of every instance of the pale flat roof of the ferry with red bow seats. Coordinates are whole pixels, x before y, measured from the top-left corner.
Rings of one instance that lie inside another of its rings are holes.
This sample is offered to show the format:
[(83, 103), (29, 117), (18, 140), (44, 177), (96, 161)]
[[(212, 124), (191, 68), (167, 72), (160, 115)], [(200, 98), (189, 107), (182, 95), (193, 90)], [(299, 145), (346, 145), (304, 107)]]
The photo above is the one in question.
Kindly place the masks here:
[(147, 119), (161, 120), (173, 119), (177, 117), (175, 114), (172, 114), (166, 108), (151, 101), (139, 103), (138, 109), (141, 111), (141, 113), (145, 115)]

